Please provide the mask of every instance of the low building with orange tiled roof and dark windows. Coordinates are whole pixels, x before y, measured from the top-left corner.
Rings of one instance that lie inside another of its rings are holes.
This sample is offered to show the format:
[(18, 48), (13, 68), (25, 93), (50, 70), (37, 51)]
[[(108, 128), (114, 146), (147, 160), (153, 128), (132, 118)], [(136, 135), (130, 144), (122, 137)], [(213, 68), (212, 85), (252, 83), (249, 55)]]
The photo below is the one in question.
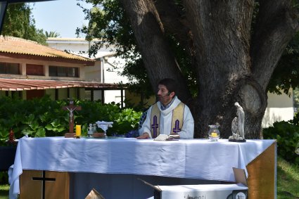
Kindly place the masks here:
[(85, 68), (95, 60), (16, 37), (0, 37), (0, 96), (30, 99), (90, 98), (92, 89), (117, 84), (86, 81)]

